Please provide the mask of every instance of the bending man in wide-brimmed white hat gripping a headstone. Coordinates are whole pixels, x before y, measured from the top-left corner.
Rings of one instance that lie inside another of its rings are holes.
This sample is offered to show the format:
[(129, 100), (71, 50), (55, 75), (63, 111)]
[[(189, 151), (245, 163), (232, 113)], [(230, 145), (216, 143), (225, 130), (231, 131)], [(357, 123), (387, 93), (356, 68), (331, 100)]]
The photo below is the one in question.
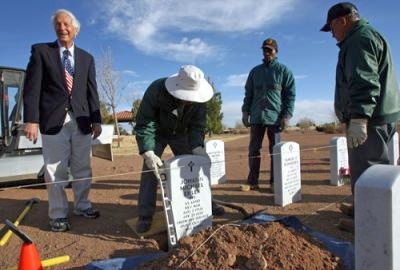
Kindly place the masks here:
[[(150, 229), (155, 212), (160, 157), (169, 145), (174, 155), (207, 156), (204, 149), (206, 102), (213, 88), (204, 73), (192, 65), (179, 73), (155, 80), (146, 90), (136, 115), (136, 141), (142, 155), (139, 220), (136, 231)], [(221, 206), (212, 205), (213, 215), (223, 215)]]

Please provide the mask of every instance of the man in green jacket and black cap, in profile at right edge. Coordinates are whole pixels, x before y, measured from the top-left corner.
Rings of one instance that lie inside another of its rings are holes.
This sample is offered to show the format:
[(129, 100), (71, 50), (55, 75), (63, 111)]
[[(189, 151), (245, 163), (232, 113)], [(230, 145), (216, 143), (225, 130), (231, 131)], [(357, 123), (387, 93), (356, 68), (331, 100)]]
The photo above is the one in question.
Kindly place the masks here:
[[(389, 164), (388, 143), (400, 119), (400, 95), (389, 45), (382, 35), (361, 19), (349, 2), (328, 11), (321, 31), (338, 41), (335, 112), (346, 124), (351, 188), (359, 176), (375, 164)], [(354, 202), (341, 205), (354, 217)], [(342, 219), (339, 228), (353, 230), (352, 219)]]

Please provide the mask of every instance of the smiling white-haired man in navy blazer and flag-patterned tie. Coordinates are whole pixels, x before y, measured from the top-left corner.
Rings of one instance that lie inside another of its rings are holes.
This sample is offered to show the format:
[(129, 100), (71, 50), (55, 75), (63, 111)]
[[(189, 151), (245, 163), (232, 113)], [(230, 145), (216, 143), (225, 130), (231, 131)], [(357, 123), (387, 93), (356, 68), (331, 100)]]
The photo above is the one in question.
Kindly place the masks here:
[(24, 87), (26, 137), (42, 134), (49, 217), (53, 231), (70, 229), (68, 167), (74, 179), (74, 214), (97, 218), (88, 199), (91, 140), (101, 133), (99, 95), (93, 57), (75, 46), (79, 21), (68, 10), (52, 16), (57, 40), (32, 46)]

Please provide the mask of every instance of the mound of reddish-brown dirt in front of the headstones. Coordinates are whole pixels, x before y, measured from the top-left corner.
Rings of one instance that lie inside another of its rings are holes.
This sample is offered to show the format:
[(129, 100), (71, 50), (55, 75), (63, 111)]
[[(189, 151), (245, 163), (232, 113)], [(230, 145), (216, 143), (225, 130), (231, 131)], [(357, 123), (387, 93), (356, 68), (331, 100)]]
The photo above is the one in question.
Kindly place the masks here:
[(209, 228), (182, 238), (177, 248), (138, 269), (329, 270), (344, 266), (309, 236), (270, 222)]

